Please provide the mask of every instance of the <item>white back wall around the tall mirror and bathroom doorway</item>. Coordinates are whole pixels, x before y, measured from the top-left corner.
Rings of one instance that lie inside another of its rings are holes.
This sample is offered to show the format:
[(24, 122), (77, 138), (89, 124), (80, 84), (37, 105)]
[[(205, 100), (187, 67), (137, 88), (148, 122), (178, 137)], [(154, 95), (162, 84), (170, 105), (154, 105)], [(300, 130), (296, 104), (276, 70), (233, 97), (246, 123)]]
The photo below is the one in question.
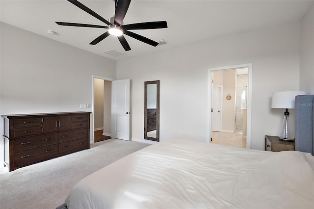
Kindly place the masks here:
[(143, 139), (144, 81), (160, 80), (160, 140), (184, 131), (208, 141), (208, 69), (252, 63), (251, 148), (263, 150), (283, 116), (271, 93), (299, 88), (300, 29), (294, 22), (118, 61), (117, 79), (131, 79), (132, 139)]

